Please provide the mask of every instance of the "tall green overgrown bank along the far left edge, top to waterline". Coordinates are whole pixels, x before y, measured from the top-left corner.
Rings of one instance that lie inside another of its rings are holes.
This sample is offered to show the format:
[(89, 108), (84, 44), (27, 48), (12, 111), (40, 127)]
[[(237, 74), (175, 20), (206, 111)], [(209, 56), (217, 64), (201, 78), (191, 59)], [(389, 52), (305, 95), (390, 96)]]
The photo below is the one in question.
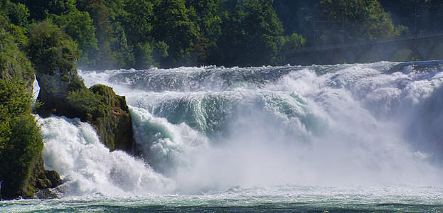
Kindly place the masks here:
[(43, 140), (31, 115), (34, 70), (0, 16), (1, 197), (33, 194), (31, 173), (41, 162)]

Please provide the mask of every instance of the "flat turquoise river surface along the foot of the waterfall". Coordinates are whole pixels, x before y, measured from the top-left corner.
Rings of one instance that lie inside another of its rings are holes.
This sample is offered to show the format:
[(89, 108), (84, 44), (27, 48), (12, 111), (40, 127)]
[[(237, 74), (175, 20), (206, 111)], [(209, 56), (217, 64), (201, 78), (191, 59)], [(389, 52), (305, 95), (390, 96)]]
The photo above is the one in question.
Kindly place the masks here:
[(198, 195), (107, 197), (2, 202), (6, 212), (441, 212), (438, 187), (233, 188)]

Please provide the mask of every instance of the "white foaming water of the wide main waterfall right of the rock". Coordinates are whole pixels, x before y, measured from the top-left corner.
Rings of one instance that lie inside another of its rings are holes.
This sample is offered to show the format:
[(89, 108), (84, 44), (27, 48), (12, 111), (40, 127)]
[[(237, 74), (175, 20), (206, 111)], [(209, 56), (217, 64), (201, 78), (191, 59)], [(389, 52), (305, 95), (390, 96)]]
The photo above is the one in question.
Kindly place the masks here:
[[(417, 129), (419, 136), (414, 138), (407, 132), (414, 120), (428, 117), (423, 104), (442, 92), (442, 72), (387, 75), (380, 71), (391, 65), (293, 67), (293, 72), (276, 82), (240, 82), (224, 90), (210, 87), (223, 84), (218, 72), (254, 73), (272, 67), (154, 70), (161, 72), (156, 75), (173, 76), (172, 80), (207, 69), (215, 73), (201, 80), (203, 87), (195, 91), (128, 89), (134, 81), (110, 83), (111, 71), (82, 75), (94, 83), (125, 88), (118, 91), (133, 106), (137, 143), (144, 158), (156, 172), (174, 180), (178, 191), (225, 190), (236, 185), (441, 185), (441, 162), (431, 160), (435, 157), (432, 149), (422, 149), (422, 143), (435, 146), (427, 135), (442, 129), (435, 120), (441, 110), (433, 112), (432, 125), (420, 123), (431, 131)], [(319, 69), (329, 71), (319, 75)], [(223, 111), (229, 121), (209, 120), (215, 116), (208, 113), (221, 113), (203, 106), (203, 99), (210, 96), (237, 103), (228, 103), (226, 107), (232, 109)], [(194, 102), (197, 107), (191, 106)], [(180, 107), (180, 116), (195, 116), (192, 121), (206, 126), (226, 122), (227, 126), (223, 133), (206, 138), (204, 146), (186, 146), (183, 127), (198, 131), (180, 118), (168, 121), (155, 115), (169, 116), (175, 111), (168, 110)]]

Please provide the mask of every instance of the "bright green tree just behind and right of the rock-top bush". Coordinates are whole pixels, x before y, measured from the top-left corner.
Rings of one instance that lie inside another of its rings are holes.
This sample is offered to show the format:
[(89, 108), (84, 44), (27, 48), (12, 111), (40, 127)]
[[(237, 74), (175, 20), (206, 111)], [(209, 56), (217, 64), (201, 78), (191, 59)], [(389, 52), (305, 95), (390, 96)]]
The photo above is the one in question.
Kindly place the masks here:
[(52, 21), (78, 43), (78, 48), (82, 51), (79, 64), (95, 65), (95, 60), (89, 60), (89, 56), (98, 51), (95, 27), (89, 13), (74, 9), (61, 16), (52, 16)]

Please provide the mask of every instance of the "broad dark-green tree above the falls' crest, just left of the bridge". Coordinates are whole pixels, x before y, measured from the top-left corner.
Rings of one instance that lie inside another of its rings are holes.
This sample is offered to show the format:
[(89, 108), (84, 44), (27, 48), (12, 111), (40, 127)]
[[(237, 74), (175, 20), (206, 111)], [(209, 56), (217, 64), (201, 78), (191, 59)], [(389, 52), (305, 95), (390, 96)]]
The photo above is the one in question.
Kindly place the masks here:
[(223, 13), (223, 35), (216, 58), (222, 65), (265, 65), (278, 62), (282, 23), (272, 0), (237, 1), (235, 10)]

